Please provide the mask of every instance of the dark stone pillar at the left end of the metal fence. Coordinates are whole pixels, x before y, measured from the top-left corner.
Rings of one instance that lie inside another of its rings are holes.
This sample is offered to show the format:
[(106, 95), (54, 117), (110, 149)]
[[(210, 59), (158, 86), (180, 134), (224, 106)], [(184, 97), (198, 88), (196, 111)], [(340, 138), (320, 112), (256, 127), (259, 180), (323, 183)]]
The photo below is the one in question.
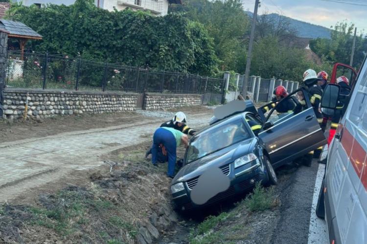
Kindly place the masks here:
[(8, 57), (8, 33), (0, 31), (0, 118), (3, 117), (3, 90), (5, 89), (6, 60)]

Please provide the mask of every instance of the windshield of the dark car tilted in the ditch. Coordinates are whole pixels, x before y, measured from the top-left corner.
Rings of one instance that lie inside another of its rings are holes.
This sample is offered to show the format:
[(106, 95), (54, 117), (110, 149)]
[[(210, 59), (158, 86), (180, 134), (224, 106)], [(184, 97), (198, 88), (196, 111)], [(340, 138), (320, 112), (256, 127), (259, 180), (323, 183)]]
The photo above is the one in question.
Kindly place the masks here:
[(198, 160), (250, 137), (242, 118), (218, 124), (214, 128), (200, 133), (194, 141), (191, 141), (187, 149), (186, 162)]

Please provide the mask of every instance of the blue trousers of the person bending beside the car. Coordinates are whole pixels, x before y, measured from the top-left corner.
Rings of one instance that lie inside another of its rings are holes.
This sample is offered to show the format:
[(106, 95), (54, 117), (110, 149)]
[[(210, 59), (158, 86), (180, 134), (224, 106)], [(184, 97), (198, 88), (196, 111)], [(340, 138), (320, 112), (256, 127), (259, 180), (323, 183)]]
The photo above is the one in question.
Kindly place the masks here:
[(176, 139), (172, 132), (158, 128), (153, 135), (152, 146), (152, 163), (157, 164), (159, 146), (163, 144), (168, 154), (168, 172), (167, 175), (173, 177), (175, 174), (176, 165)]

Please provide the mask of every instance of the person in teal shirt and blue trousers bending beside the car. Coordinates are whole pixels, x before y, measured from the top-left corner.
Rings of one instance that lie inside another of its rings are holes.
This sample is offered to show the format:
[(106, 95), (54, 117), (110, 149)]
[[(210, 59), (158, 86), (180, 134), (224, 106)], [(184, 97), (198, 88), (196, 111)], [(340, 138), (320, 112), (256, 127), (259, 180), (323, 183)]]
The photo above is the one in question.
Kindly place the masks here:
[(184, 146), (187, 147), (188, 137), (179, 130), (175, 130), (169, 127), (160, 127), (154, 132), (152, 146), (152, 163), (153, 165), (157, 165), (158, 155), (161, 147), (163, 155), (166, 154), (168, 157), (167, 176), (170, 178), (173, 178), (175, 174), (177, 147), (181, 143), (183, 143)]

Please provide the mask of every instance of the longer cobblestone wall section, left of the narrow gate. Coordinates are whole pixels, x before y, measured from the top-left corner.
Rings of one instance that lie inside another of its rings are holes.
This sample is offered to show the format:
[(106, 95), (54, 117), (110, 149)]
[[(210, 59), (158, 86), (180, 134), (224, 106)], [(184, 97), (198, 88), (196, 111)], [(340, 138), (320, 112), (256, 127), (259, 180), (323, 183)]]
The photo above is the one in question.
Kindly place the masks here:
[(133, 111), (136, 109), (138, 95), (6, 88), (3, 97), (3, 117), (10, 120), (22, 117), (27, 97), (28, 116), (42, 118), (54, 115)]

